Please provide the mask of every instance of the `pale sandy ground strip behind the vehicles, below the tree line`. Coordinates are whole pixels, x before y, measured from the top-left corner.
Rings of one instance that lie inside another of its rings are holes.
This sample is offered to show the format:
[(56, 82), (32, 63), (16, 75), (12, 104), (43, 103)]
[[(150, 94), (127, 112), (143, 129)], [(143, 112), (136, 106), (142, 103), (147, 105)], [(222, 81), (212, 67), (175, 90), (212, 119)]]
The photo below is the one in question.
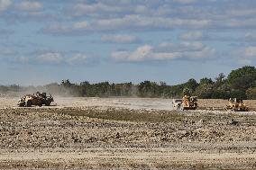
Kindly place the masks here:
[[(14, 108), (19, 98), (16, 97), (0, 97), (0, 108)], [(125, 108), (125, 109), (145, 109), (145, 110), (172, 110), (172, 99), (157, 98), (97, 98), (97, 97), (55, 97), (52, 103), (57, 108), (86, 108), (97, 107), (106, 109), (109, 107)], [(244, 100), (244, 103), (251, 109), (256, 109), (256, 100)], [(221, 108), (223, 109), (227, 100), (220, 99), (199, 99), (199, 107), (201, 108)]]

